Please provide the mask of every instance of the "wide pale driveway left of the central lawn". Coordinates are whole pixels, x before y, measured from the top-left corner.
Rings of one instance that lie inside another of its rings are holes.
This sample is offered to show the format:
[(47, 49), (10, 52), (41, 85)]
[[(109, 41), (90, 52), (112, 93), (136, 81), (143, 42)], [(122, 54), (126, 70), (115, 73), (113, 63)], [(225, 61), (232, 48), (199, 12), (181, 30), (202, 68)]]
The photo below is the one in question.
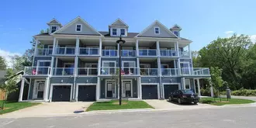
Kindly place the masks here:
[(41, 105), (6, 113), (0, 117), (61, 116), (83, 112), (93, 102), (43, 102)]

